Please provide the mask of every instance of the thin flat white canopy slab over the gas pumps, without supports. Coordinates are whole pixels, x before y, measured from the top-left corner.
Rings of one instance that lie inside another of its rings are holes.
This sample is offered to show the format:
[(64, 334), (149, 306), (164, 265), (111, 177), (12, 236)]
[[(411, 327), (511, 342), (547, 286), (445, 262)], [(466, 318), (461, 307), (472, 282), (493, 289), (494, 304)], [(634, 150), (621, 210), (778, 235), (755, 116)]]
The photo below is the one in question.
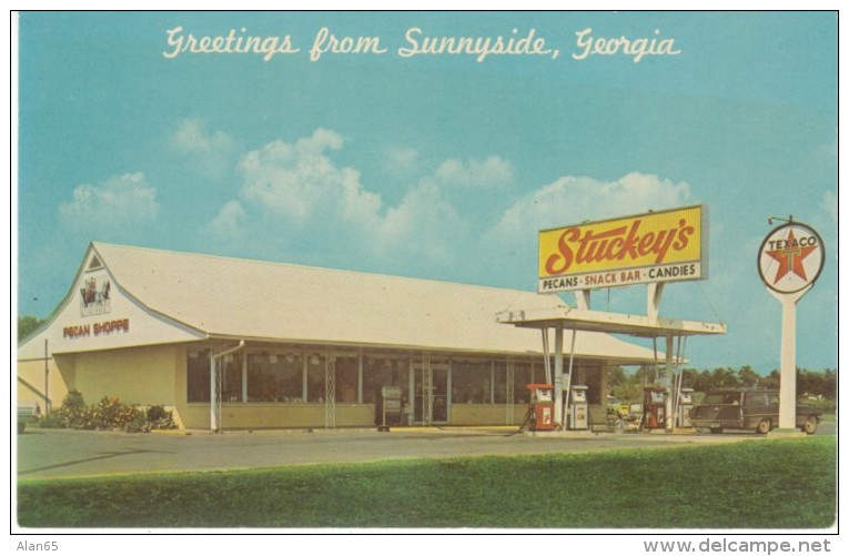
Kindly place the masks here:
[(539, 310), (502, 311), (495, 320), (526, 328), (565, 328), (641, 337), (695, 336), (725, 334), (726, 324), (608, 313), (566, 305)]

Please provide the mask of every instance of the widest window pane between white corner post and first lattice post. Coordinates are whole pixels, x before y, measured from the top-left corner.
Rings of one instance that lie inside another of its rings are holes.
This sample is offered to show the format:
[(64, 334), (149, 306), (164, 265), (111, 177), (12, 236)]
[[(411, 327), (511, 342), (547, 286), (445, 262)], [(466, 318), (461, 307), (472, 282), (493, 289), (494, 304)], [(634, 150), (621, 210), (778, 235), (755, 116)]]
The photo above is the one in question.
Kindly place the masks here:
[(291, 352), (247, 355), (249, 402), (303, 402), (303, 356)]

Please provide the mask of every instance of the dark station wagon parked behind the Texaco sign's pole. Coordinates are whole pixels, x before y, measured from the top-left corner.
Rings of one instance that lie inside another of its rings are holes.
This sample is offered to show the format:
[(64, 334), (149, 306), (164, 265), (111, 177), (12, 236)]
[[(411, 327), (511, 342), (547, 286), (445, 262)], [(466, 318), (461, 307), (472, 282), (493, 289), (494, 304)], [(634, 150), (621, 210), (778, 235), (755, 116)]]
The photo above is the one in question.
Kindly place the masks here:
[[(796, 406), (796, 427), (808, 434), (817, 431), (822, 412)], [(778, 426), (778, 391), (727, 388), (708, 392), (690, 411), (696, 428), (721, 433), (726, 428), (766, 434)]]

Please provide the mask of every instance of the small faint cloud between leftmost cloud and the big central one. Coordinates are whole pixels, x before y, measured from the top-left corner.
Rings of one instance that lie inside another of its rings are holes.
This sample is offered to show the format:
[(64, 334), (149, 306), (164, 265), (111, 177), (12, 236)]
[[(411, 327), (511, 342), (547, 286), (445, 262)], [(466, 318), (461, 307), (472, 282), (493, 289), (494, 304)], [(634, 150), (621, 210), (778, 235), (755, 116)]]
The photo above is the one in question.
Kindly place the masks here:
[(236, 151), (235, 141), (223, 131), (208, 131), (203, 120), (189, 118), (171, 135), (171, 145), (189, 156), (194, 171), (209, 178), (223, 175)]

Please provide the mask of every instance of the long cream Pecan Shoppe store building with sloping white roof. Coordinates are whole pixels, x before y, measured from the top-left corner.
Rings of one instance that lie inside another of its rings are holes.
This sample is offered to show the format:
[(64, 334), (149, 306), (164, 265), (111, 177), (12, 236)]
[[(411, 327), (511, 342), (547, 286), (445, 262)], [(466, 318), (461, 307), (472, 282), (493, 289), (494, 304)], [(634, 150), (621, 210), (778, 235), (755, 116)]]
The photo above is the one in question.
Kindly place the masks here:
[[(92, 243), (19, 345), (18, 396), (164, 405), (186, 428), (364, 427), (394, 386), (405, 425), (519, 424), (545, 370), (539, 330), (496, 319), (519, 307), (568, 309), (536, 292)], [(656, 361), (604, 332), (573, 342), (573, 384), (595, 406), (608, 365)]]

